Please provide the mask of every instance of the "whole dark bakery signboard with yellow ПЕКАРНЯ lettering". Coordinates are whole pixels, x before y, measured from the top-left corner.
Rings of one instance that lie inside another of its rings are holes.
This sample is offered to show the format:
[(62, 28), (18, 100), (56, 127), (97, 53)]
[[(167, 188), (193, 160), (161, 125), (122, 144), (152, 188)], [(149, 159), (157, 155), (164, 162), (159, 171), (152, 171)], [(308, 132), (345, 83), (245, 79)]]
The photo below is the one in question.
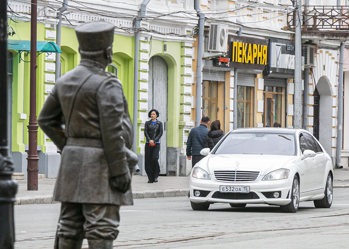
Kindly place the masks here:
[(263, 70), (267, 65), (266, 40), (228, 36), (230, 67)]

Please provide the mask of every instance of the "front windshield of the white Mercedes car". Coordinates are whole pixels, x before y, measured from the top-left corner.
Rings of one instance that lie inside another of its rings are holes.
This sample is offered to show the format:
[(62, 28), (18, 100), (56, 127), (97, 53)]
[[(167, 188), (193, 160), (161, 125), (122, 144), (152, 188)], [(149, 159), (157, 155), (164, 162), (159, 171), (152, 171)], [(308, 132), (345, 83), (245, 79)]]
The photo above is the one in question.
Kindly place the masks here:
[(295, 155), (295, 136), (277, 133), (230, 133), (214, 154)]

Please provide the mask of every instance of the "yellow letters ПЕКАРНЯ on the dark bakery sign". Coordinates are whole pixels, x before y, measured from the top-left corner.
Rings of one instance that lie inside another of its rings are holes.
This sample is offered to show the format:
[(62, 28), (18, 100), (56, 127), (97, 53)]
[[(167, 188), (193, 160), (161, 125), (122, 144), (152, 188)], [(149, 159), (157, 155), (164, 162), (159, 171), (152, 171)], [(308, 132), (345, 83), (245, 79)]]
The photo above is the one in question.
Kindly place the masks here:
[(232, 42), (232, 62), (267, 65), (267, 45)]

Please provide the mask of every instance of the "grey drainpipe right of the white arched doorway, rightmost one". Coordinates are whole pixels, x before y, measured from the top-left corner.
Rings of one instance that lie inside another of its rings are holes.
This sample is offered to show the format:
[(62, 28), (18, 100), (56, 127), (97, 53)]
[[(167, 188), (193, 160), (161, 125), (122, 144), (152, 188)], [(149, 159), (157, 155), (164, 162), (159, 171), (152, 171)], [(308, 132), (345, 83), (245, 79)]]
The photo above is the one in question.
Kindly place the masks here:
[(341, 149), (343, 142), (343, 62), (344, 43), (339, 48), (339, 76), (338, 76), (338, 111), (337, 111), (337, 144), (336, 144), (336, 165), (343, 168), (341, 164)]

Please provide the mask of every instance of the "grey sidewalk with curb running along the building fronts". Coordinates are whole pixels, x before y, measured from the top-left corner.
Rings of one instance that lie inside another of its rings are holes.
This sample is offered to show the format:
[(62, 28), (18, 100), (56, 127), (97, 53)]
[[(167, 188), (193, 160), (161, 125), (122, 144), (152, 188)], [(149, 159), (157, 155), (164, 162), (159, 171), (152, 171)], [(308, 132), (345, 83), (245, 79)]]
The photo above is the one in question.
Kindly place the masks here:
[[(148, 177), (132, 176), (134, 199), (187, 196), (189, 176), (159, 176), (157, 183), (147, 183)], [(38, 179), (38, 190), (27, 191), (27, 180), (17, 180), (18, 191), (15, 205), (51, 204), (56, 179)], [(334, 188), (349, 188), (349, 168), (334, 170)]]

